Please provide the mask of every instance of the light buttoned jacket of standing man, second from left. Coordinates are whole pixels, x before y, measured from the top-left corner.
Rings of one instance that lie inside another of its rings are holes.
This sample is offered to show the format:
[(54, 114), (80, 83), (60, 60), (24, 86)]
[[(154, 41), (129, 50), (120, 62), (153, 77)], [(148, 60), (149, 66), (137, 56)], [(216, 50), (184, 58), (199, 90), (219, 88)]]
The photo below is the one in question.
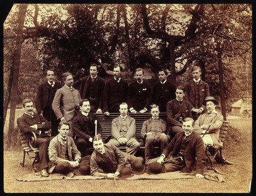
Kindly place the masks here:
[(65, 117), (66, 121), (73, 119), (80, 100), (82, 99), (77, 89), (73, 88), (70, 90), (66, 85), (57, 89), (52, 102), (52, 110), (54, 111), (57, 119), (60, 119), (62, 116)]

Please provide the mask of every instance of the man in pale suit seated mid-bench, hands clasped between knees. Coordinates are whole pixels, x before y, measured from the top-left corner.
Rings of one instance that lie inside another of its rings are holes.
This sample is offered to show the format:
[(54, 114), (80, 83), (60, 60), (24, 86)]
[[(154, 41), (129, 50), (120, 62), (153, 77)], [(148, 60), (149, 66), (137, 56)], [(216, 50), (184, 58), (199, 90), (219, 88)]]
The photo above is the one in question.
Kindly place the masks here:
[(140, 144), (135, 138), (135, 119), (127, 115), (128, 105), (123, 102), (119, 105), (120, 116), (112, 121), (111, 135), (112, 139), (108, 142), (109, 145), (126, 145), (126, 153), (135, 155), (140, 148)]

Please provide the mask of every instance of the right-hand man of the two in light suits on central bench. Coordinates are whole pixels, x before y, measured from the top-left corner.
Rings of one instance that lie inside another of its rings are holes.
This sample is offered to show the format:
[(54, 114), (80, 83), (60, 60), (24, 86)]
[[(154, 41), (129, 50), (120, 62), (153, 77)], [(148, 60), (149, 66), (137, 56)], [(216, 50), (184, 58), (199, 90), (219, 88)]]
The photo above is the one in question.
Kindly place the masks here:
[(151, 106), (151, 115), (150, 119), (143, 122), (141, 128), (141, 138), (145, 141), (145, 162), (153, 158), (154, 145), (160, 145), (163, 152), (171, 139), (168, 126), (159, 118), (159, 108), (155, 104)]

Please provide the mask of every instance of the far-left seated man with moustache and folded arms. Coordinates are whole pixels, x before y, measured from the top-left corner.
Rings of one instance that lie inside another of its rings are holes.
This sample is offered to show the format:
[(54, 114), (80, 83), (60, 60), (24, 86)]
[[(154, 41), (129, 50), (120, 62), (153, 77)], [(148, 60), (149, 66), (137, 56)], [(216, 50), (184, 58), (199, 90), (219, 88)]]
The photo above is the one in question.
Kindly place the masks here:
[(34, 102), (31, 99), (23, 100), (24, 114), (17, 119), (18, 128), (24, 135), (29, 135), (30, 132), (34, 132), (37, 136), (37, 142), (35, 147), (39, 149), (39, 169), (42, 177), (49, 177), (47, 172), (48, 167), (48, 145), (51, 141), (51, 137), (46, 131), (51, 128), (51, 122), (46, 121), (40, 114), (35, 114)]

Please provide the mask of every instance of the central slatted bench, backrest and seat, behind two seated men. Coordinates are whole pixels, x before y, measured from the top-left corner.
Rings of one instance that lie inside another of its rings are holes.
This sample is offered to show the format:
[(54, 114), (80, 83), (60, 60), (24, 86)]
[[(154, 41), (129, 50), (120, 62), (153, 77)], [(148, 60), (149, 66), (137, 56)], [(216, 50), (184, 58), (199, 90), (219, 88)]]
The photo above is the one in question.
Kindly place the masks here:
[[(96, 114), (98, 117), (98, 122), (101, 124), (102, 127), (102, 136), (103, 138), (107, 138), (108, 136), (111, 136), (111, 124), (112, 121), (115, 117), (118, 117), (120, 114), (119, 113), (110, 113), (109, 116), (105, 116), (104, 114)], [(151, 114), (150, 113), (129, 113), (129, 116), (133, 117), (135, 119), (135, 124), (136, 124), (136, 131), (135, 131), (135, 136), (138, 140), (138, 142), (140, 142), (141, 139), (141, 128), (143, 125), (143, 122), (148, 120), (149, 118), (151, 118)], [(166, 121), (166, 113), (160, 113), (159, 117), (163, 120)], [(166, 121), (167, 122), (167, 121)], [(142, 142), (140, 142), (141, 146), (140, 149), (137, 152), (137, 155), (143, 155), (144, 156), (144, 150), (145, 150), (145, 146), (144, 144), (142, 144)], [(119, 147), (120, 150), (122, 151), (126, 151), (126, 146), (120, 146)], [(89, 148), (87, 149), (88, 151), (93, 151), (93, 148)], [(155, 154), (160, 153), (160, 147), (155, 146), (154, 147), (154, 151)]]

